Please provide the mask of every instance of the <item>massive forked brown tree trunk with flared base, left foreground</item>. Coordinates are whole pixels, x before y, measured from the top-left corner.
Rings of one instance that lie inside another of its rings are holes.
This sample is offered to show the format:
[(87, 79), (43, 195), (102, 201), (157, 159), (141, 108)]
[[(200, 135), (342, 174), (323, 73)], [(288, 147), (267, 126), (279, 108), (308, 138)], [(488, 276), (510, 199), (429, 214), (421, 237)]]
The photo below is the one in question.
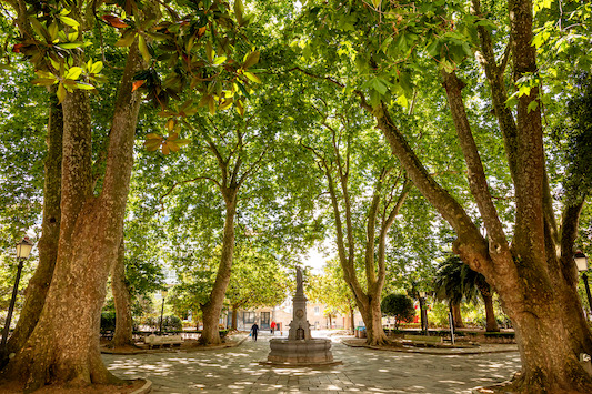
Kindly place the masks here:
[(32, 391), (49, 383), (88, 385), (117, 381), (99, 350), (106, 283), (123, 233), (140, 95), (133, 74), (142, 68), (138, 47), (128, 55), (116, 102), (101, 195), (92, 195), (91, 119), (86, 91), (68, 93), (63, 109), (61, 226), (46, 306), (7, 374)]

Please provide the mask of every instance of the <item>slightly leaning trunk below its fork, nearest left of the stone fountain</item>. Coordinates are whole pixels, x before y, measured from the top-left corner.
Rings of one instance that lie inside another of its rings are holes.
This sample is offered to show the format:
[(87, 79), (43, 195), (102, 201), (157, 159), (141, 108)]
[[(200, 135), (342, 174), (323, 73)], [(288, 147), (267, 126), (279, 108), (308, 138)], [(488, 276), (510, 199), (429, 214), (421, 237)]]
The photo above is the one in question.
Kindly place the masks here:
[(234, 254), (234, 216), (237, 214), (238, 189), (223, 190), (227, 204), (227, 218), (224, 221), (224, 235), (222, 240), (222, 254), (215, 282), (210, 293), (210, 300), (202, 306), (203, 330), (200, 336), (202, 344), (220, 344), (220, 329), (218, 322), (224, 304), (224, 295), (230, 282), (230, 270)]

